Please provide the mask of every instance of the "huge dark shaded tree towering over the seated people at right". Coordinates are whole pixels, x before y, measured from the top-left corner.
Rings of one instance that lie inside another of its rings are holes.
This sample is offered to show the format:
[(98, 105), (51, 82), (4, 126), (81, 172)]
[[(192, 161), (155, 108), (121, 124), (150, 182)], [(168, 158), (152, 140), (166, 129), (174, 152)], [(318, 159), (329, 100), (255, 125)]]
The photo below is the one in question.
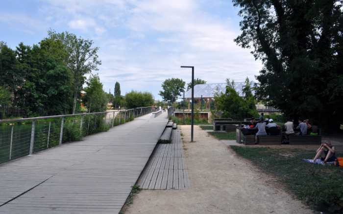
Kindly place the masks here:
[(264, 64), (258, 98), (288, 115), (337, 125), (343, 116), (342, 0), (233, 2), (243, 17), (235, 41)]

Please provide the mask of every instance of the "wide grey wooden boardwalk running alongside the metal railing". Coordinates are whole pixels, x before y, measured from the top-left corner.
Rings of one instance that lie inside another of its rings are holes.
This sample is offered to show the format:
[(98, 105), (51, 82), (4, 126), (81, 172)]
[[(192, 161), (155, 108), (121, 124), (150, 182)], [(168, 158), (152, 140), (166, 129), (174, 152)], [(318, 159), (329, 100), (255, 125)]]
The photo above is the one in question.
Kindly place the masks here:
[(0, 214), (115, 214), (168, 122), (151, 114), (0, 165)]

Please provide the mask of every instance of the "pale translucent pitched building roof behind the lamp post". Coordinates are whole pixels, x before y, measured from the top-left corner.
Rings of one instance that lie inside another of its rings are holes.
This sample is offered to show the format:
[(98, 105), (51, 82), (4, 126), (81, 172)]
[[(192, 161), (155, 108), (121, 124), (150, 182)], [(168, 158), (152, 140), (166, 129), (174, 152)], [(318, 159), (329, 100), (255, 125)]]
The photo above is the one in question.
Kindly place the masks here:
[[(245, 82), (235, 82), (235, 90), (240, 96), (244, 96), (242, 88)], [(250, 82), (251, 86), (254, 86), (253, 82)], [(212, 84), (198, 84), (194, 86), (194, 98), (213, 98), (215, 93), (225, 93), (226, 83), (212, 83)], [(254, 93), (252, 91), (252, 93)], [(185, 92), (185, 98), (192, 98), (192, 89)]]

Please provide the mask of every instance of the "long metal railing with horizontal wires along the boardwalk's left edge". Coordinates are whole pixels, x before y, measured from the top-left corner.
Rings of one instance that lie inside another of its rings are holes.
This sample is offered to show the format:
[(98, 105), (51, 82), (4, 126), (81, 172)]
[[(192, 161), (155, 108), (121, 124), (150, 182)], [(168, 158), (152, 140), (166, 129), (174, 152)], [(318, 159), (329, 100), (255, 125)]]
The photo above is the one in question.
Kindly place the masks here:
[(89, 134), (106, 131), (153, 111), (152, 107), (0, 120), (0, 164), (81, 140)]

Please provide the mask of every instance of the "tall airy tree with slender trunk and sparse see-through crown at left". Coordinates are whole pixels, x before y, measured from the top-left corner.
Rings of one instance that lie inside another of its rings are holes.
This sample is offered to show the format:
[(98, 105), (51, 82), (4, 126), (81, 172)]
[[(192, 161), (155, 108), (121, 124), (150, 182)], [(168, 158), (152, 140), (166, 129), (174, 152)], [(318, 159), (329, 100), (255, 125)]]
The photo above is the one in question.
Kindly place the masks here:
[(48, 38), (60, 40), (65, 45), (67, 55), (66, 63), (73, 74), (73, 114), (76, 110), (76, 103), (85, 82), (85, 74), (98, 70), (101, 61), (98, 60), (98, 47), (93, 47), (92, 40), (85, 40), (69, 32), (56, 33), (48, 31)]

